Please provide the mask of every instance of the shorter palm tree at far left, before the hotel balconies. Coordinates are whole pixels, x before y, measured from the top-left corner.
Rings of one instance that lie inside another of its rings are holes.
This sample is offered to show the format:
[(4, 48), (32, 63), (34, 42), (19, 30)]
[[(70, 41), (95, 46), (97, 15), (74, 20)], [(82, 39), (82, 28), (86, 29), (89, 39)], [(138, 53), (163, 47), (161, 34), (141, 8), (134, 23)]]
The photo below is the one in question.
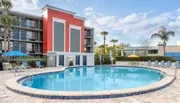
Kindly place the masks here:
[[(11, 32), (12, 32), (12, 25), (16, 22), (18, 22), (18, 21), (13, 16), (10, 16), (10, 15), (1, 15), (0, 16), (0, 23), (3, 25), (6, 25), (5, 38), (8, 37), (8, 51), (10, 50), (10, 38), (11, 38)], [(6, 48), (6, 46), (5, 46), (5, 48)]]

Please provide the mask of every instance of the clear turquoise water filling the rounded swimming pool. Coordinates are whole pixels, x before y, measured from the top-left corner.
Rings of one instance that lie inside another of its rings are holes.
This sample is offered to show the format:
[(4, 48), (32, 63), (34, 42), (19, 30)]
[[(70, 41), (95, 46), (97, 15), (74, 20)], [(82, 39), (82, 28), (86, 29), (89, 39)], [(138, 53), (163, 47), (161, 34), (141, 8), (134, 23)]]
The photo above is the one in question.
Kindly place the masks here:
[(40, 74), (22, 85), (52, 91), (101, 91), (146, 86), (163, 78), (159, 71), (141, 67), (76, 67)]

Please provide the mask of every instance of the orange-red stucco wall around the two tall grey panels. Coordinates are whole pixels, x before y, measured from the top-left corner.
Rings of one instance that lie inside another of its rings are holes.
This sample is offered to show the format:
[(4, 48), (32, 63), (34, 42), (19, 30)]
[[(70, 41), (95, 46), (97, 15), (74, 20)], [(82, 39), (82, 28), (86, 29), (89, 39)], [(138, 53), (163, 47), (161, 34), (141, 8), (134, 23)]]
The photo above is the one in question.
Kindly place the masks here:
[(84, 52), (84, 21), (76, 19), (73, 15), (63, 13), (60, 11), (47, 9), (47, 17), (43, 17), (43, 53), (47, 51), (52, 51), (52, 22), (53, 18), (59, 18), (66, 20), (66, 39), (65, 39), (65, 52), (69, 52), (69, 27), (70, 25), (81, 27), (81, 52)]

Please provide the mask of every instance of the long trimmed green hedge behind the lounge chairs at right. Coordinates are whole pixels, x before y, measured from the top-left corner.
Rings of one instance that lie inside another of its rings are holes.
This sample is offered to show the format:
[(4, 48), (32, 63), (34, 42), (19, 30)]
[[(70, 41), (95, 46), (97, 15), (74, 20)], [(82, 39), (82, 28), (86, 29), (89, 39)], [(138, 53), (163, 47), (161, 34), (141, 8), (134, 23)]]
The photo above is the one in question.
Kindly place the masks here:
[(175, 60), (172, 57), (167, 57), (167, 56), (140, 56), (139, 58), (128, 58), (126, 56), (120, 56), (120, 57), (116, 57), (116, 61), (171, 61), (174, 62)]

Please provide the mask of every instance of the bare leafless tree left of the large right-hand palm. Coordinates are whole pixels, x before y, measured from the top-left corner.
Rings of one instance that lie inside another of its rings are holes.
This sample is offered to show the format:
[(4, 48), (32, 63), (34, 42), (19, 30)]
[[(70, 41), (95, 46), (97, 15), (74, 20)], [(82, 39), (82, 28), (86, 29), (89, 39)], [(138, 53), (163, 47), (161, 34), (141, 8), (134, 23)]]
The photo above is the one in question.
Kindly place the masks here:
[(149, 48), (150, 45), (151, 45), (150, 39), (140, 38), (139, 41), (138, 41), (138, 43), (139, 43), (139, 45), (141, 46), (141, 48), (144, 49), (145, 55), (147, 56), (147, 54), (148, 54), (148, 48)]

